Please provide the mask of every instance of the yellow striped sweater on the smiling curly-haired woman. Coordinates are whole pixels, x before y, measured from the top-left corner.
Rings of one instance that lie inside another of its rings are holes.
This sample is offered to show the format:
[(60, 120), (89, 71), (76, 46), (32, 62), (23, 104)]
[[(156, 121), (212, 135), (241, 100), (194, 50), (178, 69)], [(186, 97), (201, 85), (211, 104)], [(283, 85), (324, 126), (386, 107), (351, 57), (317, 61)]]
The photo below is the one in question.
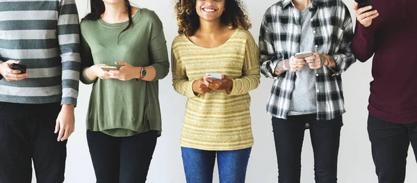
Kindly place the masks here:
[[(224, 90), (195, 95), (193, 82), (206, 73), (232, 79), (230, 94)], [(236, 29), (223, 45), (204, 48), (185, 35), (172, 43), (174, 89), (186, 95), (181, 146), (199, 150), (240, 150), (252, 147), (249, 91), (259, 86), (259, 51), (249, 31)]]

